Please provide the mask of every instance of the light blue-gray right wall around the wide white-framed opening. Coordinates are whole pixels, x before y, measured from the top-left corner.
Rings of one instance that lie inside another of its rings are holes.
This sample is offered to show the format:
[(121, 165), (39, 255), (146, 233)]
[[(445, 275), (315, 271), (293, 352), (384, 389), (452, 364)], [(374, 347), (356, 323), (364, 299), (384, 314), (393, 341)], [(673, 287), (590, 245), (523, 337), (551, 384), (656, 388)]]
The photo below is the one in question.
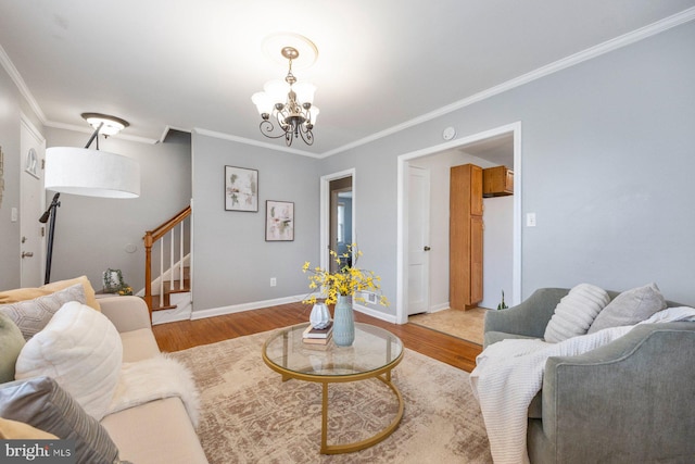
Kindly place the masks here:
[[(396, 278), (396, 159), (520, 121), (522, 294), (587, 281), (623, 290), (656, 281), (695, 303), (695, 24), (327, 159), (356, 166), (357, 240), (390, 298)], [(394, 313), (393, 308), (389, 309)]]

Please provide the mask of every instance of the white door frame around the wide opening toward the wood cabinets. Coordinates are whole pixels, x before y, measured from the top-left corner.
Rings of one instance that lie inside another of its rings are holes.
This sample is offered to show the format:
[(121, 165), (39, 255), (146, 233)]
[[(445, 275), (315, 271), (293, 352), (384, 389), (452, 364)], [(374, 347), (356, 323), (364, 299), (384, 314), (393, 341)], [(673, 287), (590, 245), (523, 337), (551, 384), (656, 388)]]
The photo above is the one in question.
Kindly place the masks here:
[(514, 136), (514, 251), (511, 263), (513, 298), (511, 305), (521, 301), (521, 122), (495, 127), (490, 130), (454, 139), (448, 142), (405, 153), (397, 159), (397, 216), (396, 216), (396, 324), (408, 319), (408, 213), (407, 213), (407, 166), (412, 160), (438, 152), (463, 147), (484, 139), (511, 134)]

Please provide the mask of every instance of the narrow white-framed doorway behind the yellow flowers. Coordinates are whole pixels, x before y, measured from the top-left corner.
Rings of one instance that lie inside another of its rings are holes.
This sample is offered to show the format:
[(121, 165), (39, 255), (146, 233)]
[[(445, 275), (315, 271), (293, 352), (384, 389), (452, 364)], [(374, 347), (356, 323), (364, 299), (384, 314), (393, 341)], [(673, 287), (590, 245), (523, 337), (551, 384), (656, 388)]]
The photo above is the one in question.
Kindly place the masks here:
[(339, 255), (356, 241), (355, 170), (321, 176), (320, 180), (320, 266), (330, 272), (352, 264), (352, 256), (340, 265), (331, 260), (330, 251)]

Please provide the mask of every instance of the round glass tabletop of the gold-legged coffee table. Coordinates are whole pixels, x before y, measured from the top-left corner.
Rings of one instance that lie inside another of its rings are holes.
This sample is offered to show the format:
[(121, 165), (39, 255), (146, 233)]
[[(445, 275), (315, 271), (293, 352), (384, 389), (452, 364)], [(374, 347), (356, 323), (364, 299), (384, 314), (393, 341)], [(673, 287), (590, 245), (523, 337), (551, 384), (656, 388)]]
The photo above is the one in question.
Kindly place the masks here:
[(304, 377), (353, 377), (375, 371), (390, 371), (401, 361), (403, 342), (399, 337), (369, 324), (355, 323), (351, 347), (309, 344), (302, 335), (308, 323), (273, 334), (263, 347), (266, 362), (288, 374)]

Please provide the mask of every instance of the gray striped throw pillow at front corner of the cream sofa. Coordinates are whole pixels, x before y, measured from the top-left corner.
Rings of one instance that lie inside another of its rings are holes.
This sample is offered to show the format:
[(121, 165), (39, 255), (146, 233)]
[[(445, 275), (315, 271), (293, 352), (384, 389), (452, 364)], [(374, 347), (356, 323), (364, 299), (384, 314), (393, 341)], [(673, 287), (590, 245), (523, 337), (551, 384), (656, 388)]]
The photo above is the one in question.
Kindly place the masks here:
[(63, 440), (75, 440), (75, 459), (79, 463), (112, 464), (118, 460), (118, 449), (106, 429), (52, 378), (37, 377), (0, 386), (0, 416)]

